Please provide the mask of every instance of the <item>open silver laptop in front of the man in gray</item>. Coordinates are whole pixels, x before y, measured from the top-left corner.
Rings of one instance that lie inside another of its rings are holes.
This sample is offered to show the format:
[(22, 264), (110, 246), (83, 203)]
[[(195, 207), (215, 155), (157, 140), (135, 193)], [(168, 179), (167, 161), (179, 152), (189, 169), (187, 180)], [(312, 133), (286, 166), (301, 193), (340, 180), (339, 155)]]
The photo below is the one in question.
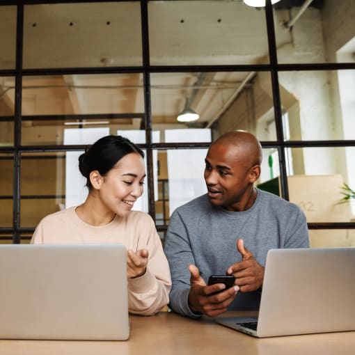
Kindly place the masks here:
[(271, 249), (258, 317), (216, 322), (259, 338), (355, 330), (355, 248)]

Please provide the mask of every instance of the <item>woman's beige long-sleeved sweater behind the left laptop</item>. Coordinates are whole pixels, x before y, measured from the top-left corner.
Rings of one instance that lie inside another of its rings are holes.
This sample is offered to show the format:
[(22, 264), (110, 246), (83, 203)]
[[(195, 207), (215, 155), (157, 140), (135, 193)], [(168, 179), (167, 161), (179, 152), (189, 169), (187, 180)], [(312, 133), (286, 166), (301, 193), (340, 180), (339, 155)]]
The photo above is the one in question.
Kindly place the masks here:
[(149, 252), (147, 271), (128, 279), (129, 312), (152, 315), (168, 303), (171, 276), (155, 224), (149, 214), (132, 211), (126, 218), (116, 216), (105, 226), (90, 226), (75, 207), (45, 216), (33, 233), (32, 244), (121, 243), (134, 251)]

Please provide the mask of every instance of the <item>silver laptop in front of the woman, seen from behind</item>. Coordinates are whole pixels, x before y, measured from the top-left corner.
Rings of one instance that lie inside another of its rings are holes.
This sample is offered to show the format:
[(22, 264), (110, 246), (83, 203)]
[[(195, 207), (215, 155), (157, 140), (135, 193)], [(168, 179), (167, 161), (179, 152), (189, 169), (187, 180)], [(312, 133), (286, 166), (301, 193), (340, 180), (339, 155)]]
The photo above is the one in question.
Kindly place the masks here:
[(0, 246), (1, 339), (128, 337), (125, 246)]

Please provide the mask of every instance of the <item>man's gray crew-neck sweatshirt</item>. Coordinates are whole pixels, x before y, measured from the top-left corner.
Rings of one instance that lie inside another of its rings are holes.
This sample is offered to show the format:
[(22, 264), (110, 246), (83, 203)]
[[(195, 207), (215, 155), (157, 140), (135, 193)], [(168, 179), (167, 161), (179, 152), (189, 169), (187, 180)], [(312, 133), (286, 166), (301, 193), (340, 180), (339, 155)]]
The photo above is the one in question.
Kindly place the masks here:
[[(207, 195), (178, 207), (169, 223), (164, 251), (173, 286), (169, 306), (188, 317), (189, 264), (200, 270), (205, 282), (210, 275), (224, 275), (230, 265), (242, 260), (237, 239), (265, 266), (271, 248), (308, 248), (306, 216), (301, 208), (276, 195), (257, 190), (253, 206), (243, 212), (229, 212), (210, 203)], [(257, 310), (260, 293), (238, 292), (228, 310)]]

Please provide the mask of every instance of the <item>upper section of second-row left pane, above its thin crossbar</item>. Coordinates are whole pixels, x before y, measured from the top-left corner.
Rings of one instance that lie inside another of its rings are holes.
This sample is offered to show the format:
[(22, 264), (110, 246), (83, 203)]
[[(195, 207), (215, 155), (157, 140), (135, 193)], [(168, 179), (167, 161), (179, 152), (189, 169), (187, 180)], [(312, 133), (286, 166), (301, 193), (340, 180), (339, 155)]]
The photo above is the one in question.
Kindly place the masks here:
[(24, 77), (24, 115), (143, 112), (141, 74)]

